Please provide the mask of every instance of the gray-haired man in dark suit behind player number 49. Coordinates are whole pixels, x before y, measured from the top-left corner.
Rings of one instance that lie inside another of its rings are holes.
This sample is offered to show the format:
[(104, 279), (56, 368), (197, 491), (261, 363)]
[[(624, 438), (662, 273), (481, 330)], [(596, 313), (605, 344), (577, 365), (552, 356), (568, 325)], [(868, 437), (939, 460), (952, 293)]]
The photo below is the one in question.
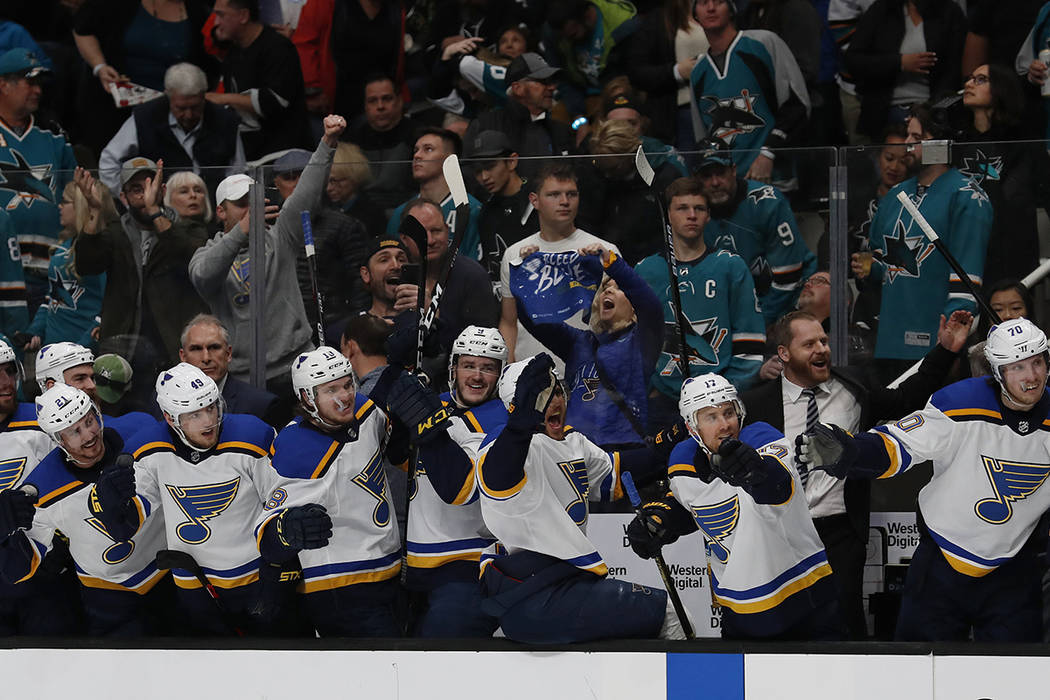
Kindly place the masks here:
[(291, 419), (291, 408), (287, 401), (242, 382), (228, 374), (233, 346), (230, 332), (218, 318), (210, 314), (197, 314), (183, 330), (183, 346), (178, 358), (200, 367), (215, 381), (231, 413), (249, 413), (262, 419), (278, 430)]

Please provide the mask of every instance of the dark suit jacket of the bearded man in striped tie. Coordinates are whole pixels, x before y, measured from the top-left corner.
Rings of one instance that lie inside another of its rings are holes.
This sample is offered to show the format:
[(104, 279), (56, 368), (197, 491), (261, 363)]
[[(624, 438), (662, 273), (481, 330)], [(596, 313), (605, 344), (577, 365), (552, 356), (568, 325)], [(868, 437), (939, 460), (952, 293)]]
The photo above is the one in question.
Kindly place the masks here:
[[(836, 378), (860, 405), (860, 429), (867, 430), (878, 421), (898, 419), (909, 411), (922, 408), (933, 391), (941, 388), (957, 355), (937, 345), (926, 355), (919, 372), (896, 389), (872, 386), (868, 378), (857, 367), (832, 367)], [(784, 429), (782, 378), (759, 384), (744, 391), (740, 399), (748, 409), (744, 423), (769, 423), (778, 430)], [(866, 479), (846, 479), (844, 499), (846, 514), (857, 534), (867, 540), (870, 512), (870, 482)]]

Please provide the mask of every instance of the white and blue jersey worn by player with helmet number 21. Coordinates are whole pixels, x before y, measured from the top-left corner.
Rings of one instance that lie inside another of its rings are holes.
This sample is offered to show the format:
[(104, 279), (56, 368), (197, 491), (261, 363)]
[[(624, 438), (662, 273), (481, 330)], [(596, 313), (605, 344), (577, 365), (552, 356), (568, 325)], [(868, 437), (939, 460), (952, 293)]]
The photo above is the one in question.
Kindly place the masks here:
[[(107, 452), (117, 452), (122, 442), (123, 434), (111, 446), (107, 436)], [(116, 454), (107, 457), (116, 459)], [(40, 496), (33, 528), (22, 533), (29, 540), (33, 556), (23, 580), (36, 572), (51, 550), (56, 530), (60, 530), (68, 538), (82, 586), (148, 593), (164, 577), (164, 571), (158, 571), (154, 564), (156, 552), (165, 547), (163, 515), (158, 511), (148, 515), (140, 512), (142, 525), (134, 536), (118, 540), (100, 516), (102, 508), (94, 484), (98, 471), (81, 471), (84, 473), (78, 474), (62, 450), (55, 448), (26, 480), (37, 487)]]

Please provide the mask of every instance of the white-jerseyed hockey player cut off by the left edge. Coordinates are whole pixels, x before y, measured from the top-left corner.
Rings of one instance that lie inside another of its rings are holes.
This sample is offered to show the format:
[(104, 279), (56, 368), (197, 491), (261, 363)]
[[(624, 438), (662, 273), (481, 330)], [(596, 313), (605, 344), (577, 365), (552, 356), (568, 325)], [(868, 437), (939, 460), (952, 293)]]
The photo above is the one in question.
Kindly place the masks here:
[[(0, 536), (33, 524), (36, 496), (20, 487), (55, 448), (37, 425), (32, 403), (19, 403), (22, 367), (10, 345), (0, 340)], [(0, 581), (0, 636), (69, 635), (79, 632), (77, 585), (62, 575), (68, 553), (51, 553), (39, 575), (10, 585)], [(76, 604), (75, 604), (76, 603)]]

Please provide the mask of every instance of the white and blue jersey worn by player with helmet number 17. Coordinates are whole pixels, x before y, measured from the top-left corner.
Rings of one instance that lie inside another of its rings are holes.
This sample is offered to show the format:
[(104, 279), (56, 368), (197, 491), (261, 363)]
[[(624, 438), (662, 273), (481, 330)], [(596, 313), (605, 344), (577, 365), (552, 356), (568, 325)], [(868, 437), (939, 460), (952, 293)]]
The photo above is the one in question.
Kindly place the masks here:
[[(814, 587), (823, 593), (832, 569), (792, 464), (793, 446), (765, 423), (747, 426), (740, 441), (791, 474), (786, 501), (762, 505), (720, 479), (706, 483), (694, 466), (700, 447), (692, 438), (671, 451), (668, 476), (674, 497), (704, 534), (715, 601), (738, 615), (754, 616), (749, 627), (772, 635), (812, 609)], [(796, 595), (803, 591), (807, 594)], [(828, 593), (828, 599), (833, 597), (834, 592)]]

